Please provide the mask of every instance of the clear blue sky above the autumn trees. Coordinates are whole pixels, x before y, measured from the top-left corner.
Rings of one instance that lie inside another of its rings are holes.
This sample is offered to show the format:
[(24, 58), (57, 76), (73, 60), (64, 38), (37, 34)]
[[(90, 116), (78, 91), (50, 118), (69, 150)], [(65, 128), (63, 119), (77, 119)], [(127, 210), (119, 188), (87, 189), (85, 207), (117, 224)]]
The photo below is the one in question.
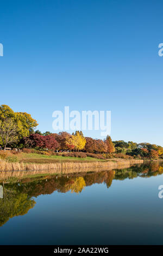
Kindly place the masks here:
[[(1, 1), (0, 104), (42, 132), (52, 112), (111, 110), (111, 138), (163, 146), (163, 2)], [(100, 132), (84, 135), (101, 138)]]

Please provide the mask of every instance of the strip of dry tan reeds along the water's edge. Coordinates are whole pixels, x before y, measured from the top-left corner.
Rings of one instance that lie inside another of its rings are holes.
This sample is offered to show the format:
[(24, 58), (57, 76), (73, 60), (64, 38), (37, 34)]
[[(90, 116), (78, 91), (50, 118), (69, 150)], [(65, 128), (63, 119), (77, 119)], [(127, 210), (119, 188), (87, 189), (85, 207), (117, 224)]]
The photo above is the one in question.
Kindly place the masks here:
[(129, 168), (133, 164), (141, 164), (143, 160), (117, 160), (108, 162), (61, 162), (48, 164), (24, 164), (8, 163), (5, 160), (0, 161), (0, 181), (8, 178), (23, 178), (31, 175), (43, 174), (71, 174), (75, 172), (101, 171)]

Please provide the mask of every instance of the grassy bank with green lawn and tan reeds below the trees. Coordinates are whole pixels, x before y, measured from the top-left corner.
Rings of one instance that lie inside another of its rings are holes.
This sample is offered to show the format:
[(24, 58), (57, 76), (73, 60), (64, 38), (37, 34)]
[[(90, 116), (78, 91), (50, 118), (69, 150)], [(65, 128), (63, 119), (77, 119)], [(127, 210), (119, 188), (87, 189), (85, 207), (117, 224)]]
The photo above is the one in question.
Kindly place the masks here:
[(143, 160), (121, 158), (104, 160), (93, 157), (46, 156), (23, 152), (13, 155), (8, 153), (6, 158), (0, 159), (0, 178), (121, 169), (139, 163), (143, 163)]

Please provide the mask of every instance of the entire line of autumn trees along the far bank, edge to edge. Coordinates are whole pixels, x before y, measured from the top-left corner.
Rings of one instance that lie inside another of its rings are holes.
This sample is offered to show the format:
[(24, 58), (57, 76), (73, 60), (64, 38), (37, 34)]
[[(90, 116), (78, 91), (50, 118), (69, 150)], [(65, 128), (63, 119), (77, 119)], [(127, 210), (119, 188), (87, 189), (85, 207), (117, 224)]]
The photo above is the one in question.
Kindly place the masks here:
[(0, 145), (2, 148), (35, 148), (55, 152), (87, 152), (104, 158), (163, 158), (163, 147), (143, 142), (112, 141), (84, 137), (83, 133), (41, 133), (37, 122), (26, 112), (14, 112), (9, 106), (0, 106)]

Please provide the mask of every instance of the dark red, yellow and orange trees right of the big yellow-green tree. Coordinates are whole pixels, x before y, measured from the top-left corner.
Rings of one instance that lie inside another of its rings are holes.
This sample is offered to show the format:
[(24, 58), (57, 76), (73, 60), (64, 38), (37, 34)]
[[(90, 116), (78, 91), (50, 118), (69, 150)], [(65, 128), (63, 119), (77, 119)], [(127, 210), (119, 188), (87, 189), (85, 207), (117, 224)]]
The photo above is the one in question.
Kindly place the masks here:
[(84, 138), (83, 133), (75, 134), (67, 132), (40, 134), (37, 130), (34, 134), (24, 137), (20, 141), (21, 147), (48, 148), (57, 151), (85, 151), (90, 153), (113, 153), (115, 151), (110, 136), (106, 140), (95, 140), (90, 137)]

